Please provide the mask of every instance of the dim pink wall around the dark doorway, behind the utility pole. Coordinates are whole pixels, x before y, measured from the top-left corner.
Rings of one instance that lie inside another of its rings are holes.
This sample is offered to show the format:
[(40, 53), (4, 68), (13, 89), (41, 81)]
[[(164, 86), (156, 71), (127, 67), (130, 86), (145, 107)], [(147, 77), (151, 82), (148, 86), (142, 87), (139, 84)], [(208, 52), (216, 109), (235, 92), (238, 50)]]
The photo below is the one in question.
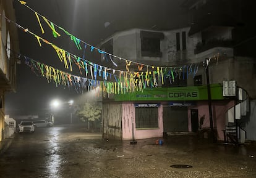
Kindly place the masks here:
[[(213, 127), (216, 127), (218, 132), (218, 140), (224, 140), (223, 136), (223, 129), (226, 126), (226, 118), (225, 114), (229, 108), (234, 106), (234, 101), (225, 102), (215, 101), (211, 103), (212, 105), (212, 113), (213, 113)], [(210, 127), (210, 119), (209, 119), (209, 109), (208, 109), (208, 102), (197, 102), (196, 107), (191, 107), (190, 109), (197, 109), (198, 110), (198, 122), (199, 119), (205, 115), (205, 119), (203, 121), (203, 127)], [(188, 118), (189, 118), (189, 131), (191, 131), (191, 116), (190, 116), (190, 109), (188, 111)]]

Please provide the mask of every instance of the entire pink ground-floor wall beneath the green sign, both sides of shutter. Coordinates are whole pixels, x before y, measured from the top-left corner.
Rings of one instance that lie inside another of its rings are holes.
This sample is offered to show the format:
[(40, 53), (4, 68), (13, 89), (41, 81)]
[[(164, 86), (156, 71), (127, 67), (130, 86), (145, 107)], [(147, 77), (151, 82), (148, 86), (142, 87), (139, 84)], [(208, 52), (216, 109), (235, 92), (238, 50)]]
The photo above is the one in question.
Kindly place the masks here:
[[(234, 106), (234, 101), (213, 101), (213, 127), (217, 129), (217, 139), (224, 140), (223, 129), (226, 126), (226, 111)], [(208, 102), (197, 102), (197, 106), (188, 110), (188, 129), (191, 132), (191, 116), (190, 110), (198, 110), (198, 122), (201, 116), (205, 115), (202, 127), (210, 128), (210, 119), (208, 111)], [(163, 137), (163, 105), (158, 107), (158, 129), (136, 129), (135, 127), (135, 107), (134, 103), (122, 103), (122, 139), (132, 139), (132, 123), (134, 124), (134, 138), (147, 139), (152, 137)]]

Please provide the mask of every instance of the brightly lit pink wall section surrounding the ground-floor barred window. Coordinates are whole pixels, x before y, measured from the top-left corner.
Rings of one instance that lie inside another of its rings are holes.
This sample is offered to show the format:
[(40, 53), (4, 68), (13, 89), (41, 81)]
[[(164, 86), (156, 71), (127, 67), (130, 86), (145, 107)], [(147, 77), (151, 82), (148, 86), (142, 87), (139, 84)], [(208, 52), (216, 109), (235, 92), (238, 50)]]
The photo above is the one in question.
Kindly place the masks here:
[(158, 107), (158, 129), (136, 129), (134, 103), (122, 103), (122, 139), (132, 139), (132, 123), (134, 124), (134, 138), (147, 139), (163, 137), (163, 105)]

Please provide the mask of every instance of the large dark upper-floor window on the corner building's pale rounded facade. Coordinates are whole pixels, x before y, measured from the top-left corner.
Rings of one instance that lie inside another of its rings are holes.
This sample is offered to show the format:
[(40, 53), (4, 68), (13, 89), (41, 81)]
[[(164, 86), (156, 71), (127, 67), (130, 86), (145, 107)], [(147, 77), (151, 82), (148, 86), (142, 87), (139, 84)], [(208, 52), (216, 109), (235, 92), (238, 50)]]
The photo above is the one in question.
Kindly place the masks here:
[(163, 33), (140, 31), (142, 56), (161, 57), (161, 39), (163, 38)]

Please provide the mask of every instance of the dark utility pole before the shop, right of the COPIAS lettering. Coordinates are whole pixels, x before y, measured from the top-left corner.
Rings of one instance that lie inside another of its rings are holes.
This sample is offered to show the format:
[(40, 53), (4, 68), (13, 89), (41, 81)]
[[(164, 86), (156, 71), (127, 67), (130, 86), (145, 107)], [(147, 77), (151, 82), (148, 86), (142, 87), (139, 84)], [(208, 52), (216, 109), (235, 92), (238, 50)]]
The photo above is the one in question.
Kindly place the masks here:
[(208, 108), (209, 108), (209, 120), (210, 120), (210, 134), (211, 134), (211, 139), (213, 141), (213, 143), (216, 142), (216, 138), (215, 138), (215, 131), (213, 129), (213, 112), (211, 110), (211, 86), (210, 86), (210, 79), (209, 79), (209, 63), (210, 63), (211, 58), (209, 59), (205, 59), (205, 61), (203, 62), (205, 66), (205, 72), (207, 75), (207, 93), (208, 93)]

